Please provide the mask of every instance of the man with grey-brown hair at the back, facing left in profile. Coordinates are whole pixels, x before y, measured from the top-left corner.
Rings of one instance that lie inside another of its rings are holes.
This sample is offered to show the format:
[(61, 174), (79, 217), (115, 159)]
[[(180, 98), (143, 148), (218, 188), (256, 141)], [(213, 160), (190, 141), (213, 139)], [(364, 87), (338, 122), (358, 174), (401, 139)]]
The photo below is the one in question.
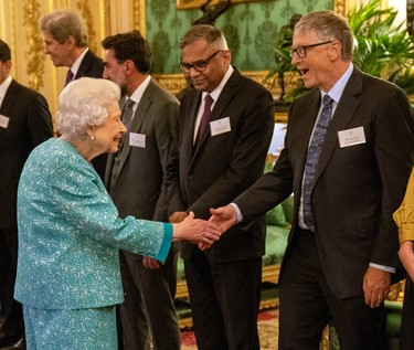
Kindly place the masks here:
[[(66, 83), (83, 76), (102, 77), (103, 60), (87, 47), (87, 26), (77, 11), (55, 10), (39, 21), (44, 39), (44, 52), (56, 67), (66, 66)], [(107, 153), (92, 160), (96, 172), (104, 180)]]

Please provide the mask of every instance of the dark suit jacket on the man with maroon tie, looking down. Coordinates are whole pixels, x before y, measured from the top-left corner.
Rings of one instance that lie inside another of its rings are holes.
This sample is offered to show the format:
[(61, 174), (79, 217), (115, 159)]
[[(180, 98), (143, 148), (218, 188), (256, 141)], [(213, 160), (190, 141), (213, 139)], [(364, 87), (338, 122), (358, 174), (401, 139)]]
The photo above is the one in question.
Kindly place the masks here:
[[(274, 128), (272, 94), (235, 70), (216, 100), (210, 120), (230, 118), (231, 130), (211, 136), (208, 126), (193, 147), (201, 93), (189, 88), (180, 109), (180, 183), (185, 211), (209, 219), (210, 208), (229, 203), (262, 174)], [(189, 258), (194, 245), (182, 243)], [(264, 220), (229, 230), (206, 251), (216, 261), (259, 257), (265, 252)]]

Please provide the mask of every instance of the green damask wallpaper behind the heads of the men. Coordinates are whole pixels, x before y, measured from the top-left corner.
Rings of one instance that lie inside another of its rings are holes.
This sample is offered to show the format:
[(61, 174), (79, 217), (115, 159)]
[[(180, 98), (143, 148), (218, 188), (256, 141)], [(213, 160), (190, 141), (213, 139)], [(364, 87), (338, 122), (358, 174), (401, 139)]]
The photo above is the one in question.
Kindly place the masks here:
[[(181, 35), (201, 10), (177, 10), (176, 0), (146, 0), (147, 40), (153, 51), (152, 73), (179, 73)], [(267, 71), (274, 64), (274, 33), (295, 13), (332, 9), (332, 0), (267, 0), (233, 4), (215, 22), (241, 71)]]

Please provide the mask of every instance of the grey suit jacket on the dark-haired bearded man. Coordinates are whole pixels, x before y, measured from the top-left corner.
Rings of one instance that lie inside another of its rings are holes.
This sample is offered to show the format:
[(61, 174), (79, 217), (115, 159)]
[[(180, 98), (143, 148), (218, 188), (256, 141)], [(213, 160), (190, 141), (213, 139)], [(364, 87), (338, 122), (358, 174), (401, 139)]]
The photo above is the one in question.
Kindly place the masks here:
[[(121, 100), (121, 108), (124, 107)], [(167, 203), (167, 193), (178, 192), (178, 168), (170, 174), (167, 169), (172, 139), (178, 134), (178, 99), (150, 81), (135, 113), (130, 132), (145, 135), (145, 147), (129, 146), (129, 132), (121, 146), (120, 170), (112, 178), (114, 155), (108, 155), (105, 174), (106, 188), (121, 218), (134, 215), (139, 219), (168, 222), (180, 202)], [(173, 170), (171, 170), (173, 171)], [(171, 181), (176, 179), (176, 181)], [(167, 204), (171, 205), (168, 210)]]

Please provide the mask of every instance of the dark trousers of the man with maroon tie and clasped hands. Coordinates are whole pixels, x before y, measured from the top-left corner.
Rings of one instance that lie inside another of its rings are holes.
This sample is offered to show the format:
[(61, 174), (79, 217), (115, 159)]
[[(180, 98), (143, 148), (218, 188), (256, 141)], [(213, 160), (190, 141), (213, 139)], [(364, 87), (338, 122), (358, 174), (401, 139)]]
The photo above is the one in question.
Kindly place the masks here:
[(259, 350), (262, 258), (209, 261), (198, 248), (184, 261), (199, 350)]

